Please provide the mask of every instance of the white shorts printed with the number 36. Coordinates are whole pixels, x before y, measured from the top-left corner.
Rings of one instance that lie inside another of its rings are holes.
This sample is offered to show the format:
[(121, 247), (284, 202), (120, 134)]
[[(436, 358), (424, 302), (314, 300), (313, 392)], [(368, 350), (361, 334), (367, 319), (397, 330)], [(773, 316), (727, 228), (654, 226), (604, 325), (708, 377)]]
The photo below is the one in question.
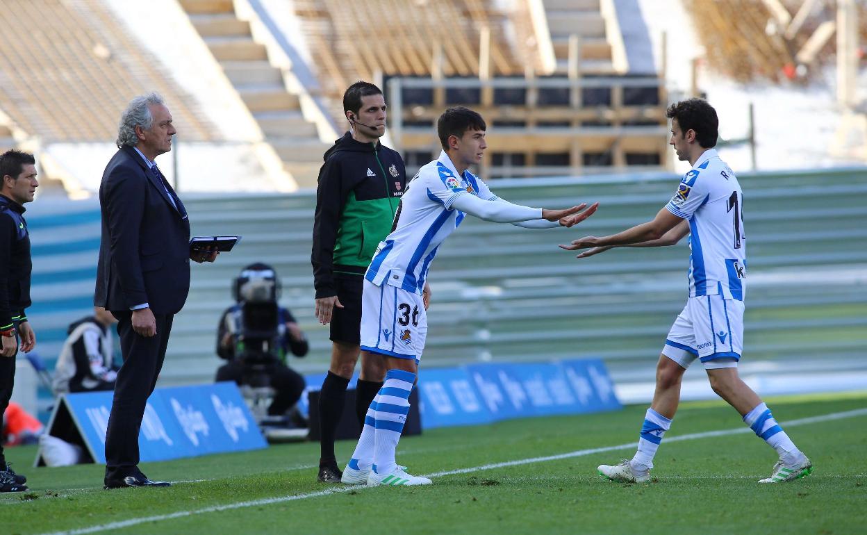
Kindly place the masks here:
[(420, 295), (364, 279), (362, 350), (419, 361), (427, 338), (427, 314)]

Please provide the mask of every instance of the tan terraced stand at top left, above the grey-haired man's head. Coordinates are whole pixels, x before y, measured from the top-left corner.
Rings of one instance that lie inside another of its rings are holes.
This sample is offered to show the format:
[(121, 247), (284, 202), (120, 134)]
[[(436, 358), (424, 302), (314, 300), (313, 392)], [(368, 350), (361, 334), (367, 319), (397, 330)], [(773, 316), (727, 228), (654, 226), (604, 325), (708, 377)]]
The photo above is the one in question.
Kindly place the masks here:
[(103, 3), (9, 0), (0, 25), (0, 109), (42, 143), (114, 140), (121, 110), (143, 88), (173, 102), (186, 138), (215, 140), (196, 101)]

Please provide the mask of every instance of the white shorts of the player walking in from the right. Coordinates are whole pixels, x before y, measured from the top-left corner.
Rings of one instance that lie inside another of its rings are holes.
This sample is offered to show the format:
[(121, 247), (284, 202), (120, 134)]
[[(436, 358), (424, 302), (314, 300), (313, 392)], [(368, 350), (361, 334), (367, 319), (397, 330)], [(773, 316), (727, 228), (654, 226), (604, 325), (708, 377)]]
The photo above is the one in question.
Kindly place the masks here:
[(668, 331), (662, 355), (688, 368), (735, 368), (744, 346), (744, 302), (721, 295), (689, 297)]

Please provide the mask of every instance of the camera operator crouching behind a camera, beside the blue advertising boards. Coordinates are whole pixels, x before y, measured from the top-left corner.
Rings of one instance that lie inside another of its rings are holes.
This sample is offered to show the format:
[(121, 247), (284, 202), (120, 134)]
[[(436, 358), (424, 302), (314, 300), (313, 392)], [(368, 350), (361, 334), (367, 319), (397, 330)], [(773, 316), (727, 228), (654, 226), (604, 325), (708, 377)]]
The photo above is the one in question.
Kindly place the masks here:
[[(310, 344), (291, 312), (277, 305), (280, 281), (270, 265), (248, 265), (232, 287), (236, 303), (217, 327), (217, 356), (229, 362), (217, 369), (216, 381), (241, 385), (264, 379), (274, 388), (268, 415), (284, 416), (307, 387), (303, 376), (286, 365), (286, 354), (305, 356)], [(295, 423), (302, 421), (296, 416)]]

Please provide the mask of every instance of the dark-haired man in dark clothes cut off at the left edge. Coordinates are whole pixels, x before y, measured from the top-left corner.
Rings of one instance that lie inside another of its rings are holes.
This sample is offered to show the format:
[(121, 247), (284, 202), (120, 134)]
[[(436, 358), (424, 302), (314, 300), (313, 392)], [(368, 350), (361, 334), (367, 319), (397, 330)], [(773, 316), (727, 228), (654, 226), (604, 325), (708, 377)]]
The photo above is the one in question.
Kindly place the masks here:
[[(39, 181), (33, 154), (10, 150), (0, 156), (0, 417), (9, 406), (15, 384), (15, 356), (36, 345), (24, 309), (30, 306), (30, 237), (24, 203), (32, 202)], [(27, 480), (6, 463), (0, 444), (0, 493), (26, 491)]]

